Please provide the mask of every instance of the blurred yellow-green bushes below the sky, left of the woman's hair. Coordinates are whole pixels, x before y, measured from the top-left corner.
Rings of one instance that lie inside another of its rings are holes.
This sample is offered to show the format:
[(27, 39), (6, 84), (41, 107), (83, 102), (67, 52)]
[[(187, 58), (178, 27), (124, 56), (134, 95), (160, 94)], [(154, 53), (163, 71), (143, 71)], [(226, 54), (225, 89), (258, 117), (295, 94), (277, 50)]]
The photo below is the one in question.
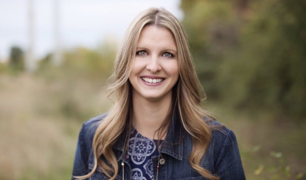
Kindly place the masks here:
[(65, 77), (101, 83), (101, 79), (106, 79), (111, 73), (112, 62), (116, 55), (115, 45), (114, 42), (104, 42), (103, 46), (95, 50), (85, 47), (65, 50), (62, 54), (63, 63), (60, 67), (53, 65), (53, 54), (47, 54), (39, 61), (37, 74), (43, 75), (49, 80)]

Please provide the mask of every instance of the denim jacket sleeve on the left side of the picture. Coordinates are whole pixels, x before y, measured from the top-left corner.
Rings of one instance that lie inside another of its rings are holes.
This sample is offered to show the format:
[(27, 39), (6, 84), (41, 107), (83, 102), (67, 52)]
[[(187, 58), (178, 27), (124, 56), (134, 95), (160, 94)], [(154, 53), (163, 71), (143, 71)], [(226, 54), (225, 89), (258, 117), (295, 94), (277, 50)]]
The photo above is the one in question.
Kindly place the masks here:
[(86, 174), (88, 174), (88, 153), (85, 147), (83, 123), (83, 126), (79, 133), (79, 138), (77, 140), (71, 179), (75, 179), (73, 178), (73, 176), (80, 176)]

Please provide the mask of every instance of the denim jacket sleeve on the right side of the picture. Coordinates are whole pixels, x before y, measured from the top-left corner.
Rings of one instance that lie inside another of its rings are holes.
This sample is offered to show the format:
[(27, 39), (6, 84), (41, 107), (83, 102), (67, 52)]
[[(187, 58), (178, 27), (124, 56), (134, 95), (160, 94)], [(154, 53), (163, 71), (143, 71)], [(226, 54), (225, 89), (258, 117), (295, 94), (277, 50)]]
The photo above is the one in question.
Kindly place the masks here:
[(238, 144), (233, 131), (229, 131), (219, 151), (215, 170), (220, 180), (244, 180), (245, 175), (239, 154)]

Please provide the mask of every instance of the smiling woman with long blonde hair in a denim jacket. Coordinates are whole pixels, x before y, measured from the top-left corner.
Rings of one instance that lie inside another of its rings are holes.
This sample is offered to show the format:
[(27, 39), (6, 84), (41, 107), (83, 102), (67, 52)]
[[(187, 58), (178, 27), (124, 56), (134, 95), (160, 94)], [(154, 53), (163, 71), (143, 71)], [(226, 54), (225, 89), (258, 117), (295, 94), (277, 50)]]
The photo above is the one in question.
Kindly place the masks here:
[(165, 9), (129, 26), (108, 113), (80, 130), (73, 179), (245, 179), (234, 133), (201, 106), (185, 31)]

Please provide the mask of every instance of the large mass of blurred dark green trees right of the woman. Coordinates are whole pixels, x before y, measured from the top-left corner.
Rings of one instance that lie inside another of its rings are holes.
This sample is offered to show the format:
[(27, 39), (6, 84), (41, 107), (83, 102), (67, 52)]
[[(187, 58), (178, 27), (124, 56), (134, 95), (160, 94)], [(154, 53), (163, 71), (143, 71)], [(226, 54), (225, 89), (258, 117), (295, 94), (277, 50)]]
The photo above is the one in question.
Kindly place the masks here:
[(182, 1), (208, 98), (235, 108), (306, 114), (302, 1)]

